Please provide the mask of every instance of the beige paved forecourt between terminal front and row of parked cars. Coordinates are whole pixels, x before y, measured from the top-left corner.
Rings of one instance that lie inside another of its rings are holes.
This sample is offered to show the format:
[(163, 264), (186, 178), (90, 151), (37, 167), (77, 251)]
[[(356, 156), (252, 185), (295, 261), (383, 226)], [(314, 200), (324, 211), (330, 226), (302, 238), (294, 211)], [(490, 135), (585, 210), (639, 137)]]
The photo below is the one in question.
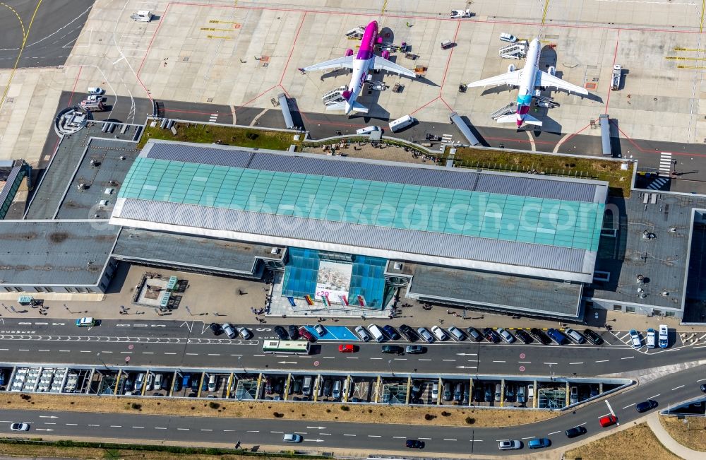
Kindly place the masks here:
[[(142, 276), (147, 272), (160, 273), (162, 277), (177, 276), (180, 280), (189, 282), (188, 288), (182, 296), (179, 307), (159, 314), (158, 310), (152, 307), (133, 305), (132, 298), (136, 285), (140, 283)], [(186, 273), (172, 271), (169, 269), (156, 269), (145, 266), (127, 266), (121, 264), (116, 274), (116, 278), (110, 285), (108, 293), (102, 296), (102, 300), (96, 301), (97, 295), (68, 294), (62, 295), (66, 300), (46, 300), (48, 297), (42, 293), (21, 293), (32, 295), (35, 299), (45, 299), (44, 307), (47, 307), (47, 314), (40, 314), (40, 309), (22, 307), (18, 305), (17, 298), (20, 293), (13, 294), (12, 297), (3, 296), (0, 299), (0, 317), (2, 318), (41, 318), (41, 319), (76, 319), (78, 317), (92, 316), (98, 319), (121, 319), (121, 320), (145, 320), (145, 321), (203, 321), (210, 322), (232, 322), (234, 324), (254, 324), (258, 321), (266, 324), (312, 324), (318, 321), (318, 317), (282, 317), (263, 316), (253, 314), (252, 309), (262, 309), (266, 302), (266, 296), (270, 293), (270, 285), (262, 281), (249, 281), (236, 278), (225, 278), (218, 276), (207, 276), (198, 273)], [(658, 324), (667, 324), (670, 328), (680, 332), (702, 332), (706, 333), (706, 327), (679, 326), (677, 319), (657, 317), (645, 317), (638, 314), (621, 312), (609, 312), (606, 310), (593, 310), (585, 314), (587, 324), (571, 324), (548, 319), (531, 319), (527, 317), (513, 317), (510, 314), (480, 312), (477, 310), (463, 310), (455, 307), (434, 306), (431, 309), (423, 309), (423, 305), (407, 300), (404, 297), (398, 304), (410, 304), (409, 307), (401, 307), (400, 314), (394, 319), (385, 317), (366, 320), (361, 317), (349, 318), (325, 318), (323, 324), (336, 325), (358, 325), (370, 324), (391, 324), (399, 326), (408, 324), (409, 326), (433, 326), (439, 324), (444, 328), (448, 326), (476, 328), (484, 327), (505, 327), (525, 328), (525, 327), (569, 327), (582, 330), (591, 327), (599, 331), (605, 331), (602, 326), (610, 324), (614, 331), (627, 331), (628, 329), (638, 329), (645, 331), (652, 327), (657, 329)], [(121, 314), (121, 306), (126, 307), (126, 314)], [(12, 309), (16, 312), (12, 312)], [(597, 317), (596, 314), (597, 313)], [(565, 326), (566, 327), (566, 326)]]

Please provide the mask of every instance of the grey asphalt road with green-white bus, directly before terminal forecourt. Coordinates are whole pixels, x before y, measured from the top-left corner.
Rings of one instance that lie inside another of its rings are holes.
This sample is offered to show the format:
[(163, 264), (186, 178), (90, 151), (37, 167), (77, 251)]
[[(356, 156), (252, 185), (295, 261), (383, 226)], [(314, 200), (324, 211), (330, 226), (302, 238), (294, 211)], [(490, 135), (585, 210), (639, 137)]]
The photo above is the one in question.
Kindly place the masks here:
[[(269, 369), (315, 372), (418, 372), (462, 375), (596, 376), (672, 365), (702, 358), (706, 346), (666, 350), (634, 350), (617, 336), (603, 331), (604, 346), (542, 346), (469, 341), (432, 343), (421, 355), (381, 353), (378, 343), (320, 340), (312, 355), (262, 353), (262, 341), (275, 338), (272, 326), (249, 326), (252, 340), (214, 336), (202, 322), (140, 322), (104, 320), (100, 326), (78, 328), (71, 320), (0, 319), (0, 352), (6, 362), (98, 366), (125, 365), (232, 370)], [(344, 328), (341, 328), (344, 329)], [(331, 329), (333, 330), (333, 329)], [(339, 353), (340, 343), (355, 343), (357, 353)], [(409, 342), (395, 342), (406, 345)], [(700, 342), (698, 342), (700, 343)], [(100, 357), (97, 356), (100, 353)]]

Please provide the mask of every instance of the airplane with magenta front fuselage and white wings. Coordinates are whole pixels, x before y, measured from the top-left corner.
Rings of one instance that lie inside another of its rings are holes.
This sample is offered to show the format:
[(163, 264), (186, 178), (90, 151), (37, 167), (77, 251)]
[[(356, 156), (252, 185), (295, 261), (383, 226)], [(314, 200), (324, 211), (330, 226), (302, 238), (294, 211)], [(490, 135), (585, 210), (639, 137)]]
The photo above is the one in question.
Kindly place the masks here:
[(382, 57), (376, 56), (375, 45), (380, 44), (381, 42), (382, 40), (378, 39), (378, 23), (373, 20), (373, 22), (369, 23), (365, 28), (363, 39), (360, 42), (360, 49), (358, 50), (357, 55), (353, 56), (352, 50), (349, 50), (345, 57), (331, 59), (330, 61), (320, 62), (319, 64), (313, 64), (313, 66), (304, 67), (304, 69), (301, 69), (307, 72), (312, 70), (343, 68), (353, 70), (351, 82), (348, 84), (347, 89), (342, 93), (344, 100), (333, 105), (327, 105), (326, 110), (343, 110), (346, 114), (349, 114), (350, 112), (368, 113), (368, 107), (364, 107), (356, 102), (356, 98), (358, 97), (360, 90), (363, 88), (366, 78), (371, 70), (386, 70), (399, 73), (400, 75), (404, 75), (409, 78), (417, 77), (413, 71), (388, 61), (387, 57), (390, 55), (389, 52), (383, 51)]

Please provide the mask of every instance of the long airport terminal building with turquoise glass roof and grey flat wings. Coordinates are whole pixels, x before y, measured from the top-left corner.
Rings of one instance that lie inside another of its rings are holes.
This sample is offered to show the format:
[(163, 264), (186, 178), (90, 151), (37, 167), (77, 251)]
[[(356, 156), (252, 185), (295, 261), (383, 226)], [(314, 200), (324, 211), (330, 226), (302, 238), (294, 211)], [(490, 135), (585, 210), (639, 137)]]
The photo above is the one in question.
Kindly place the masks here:
[(172, 141), (137, 150), (133, 136), (85, 130), (64, 138), (24, 218), (0, 221), (6, 293), (101, 293), (122, 262), (274, 275), (295, 312), (381, 310), (399, 295), (568, 321), (594, 307), (703, 322), (699, 196)]

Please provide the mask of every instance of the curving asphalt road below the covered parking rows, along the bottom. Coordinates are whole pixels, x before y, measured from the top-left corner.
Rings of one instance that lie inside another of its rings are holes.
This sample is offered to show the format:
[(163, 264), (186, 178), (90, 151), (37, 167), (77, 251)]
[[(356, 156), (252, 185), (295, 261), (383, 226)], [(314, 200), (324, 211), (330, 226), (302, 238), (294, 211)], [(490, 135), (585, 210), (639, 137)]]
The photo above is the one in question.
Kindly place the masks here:
[[(503, 428), (433, 427), (424, 425), (380, 425), (374, 423), (333, 423), (317, 421), (263, 420), (237, 418), (175, 417), (169, 415), (103, 414), (81, 412), (44, 412), (6, 410), (0, 415), (0, 432), (11, 433), (10, 423), (30, 423), (28, 436), (52, 435), (64, 438), (91, 437), (116, 440), (145, 440), (153, 442), (213, 442), (236, 443), (243, 447), (282, 444), (283, 433), (296, 432), (304, 437), (302, 449), (363, 448), (369, 452), (404, 449), (405, 440), (426, 442), (421, 453), (496, 454), (498, 441), (522, 440), (525, 444), (534, 437), (548, 437), (552, 447), (563, 447), (570, 440), (563, 434), (577, 425), (587, 429), (587, 435), (602, 430), (599, 418), (613, 413), (618, 423), (625, 424), (642, 415), (635, 411), (635, 403), (654, 399), (659, 406), (701, 396), (699, 382), (703, 366), (653, 380), (647, 384), (611, 396), (605, 401), (588, 404), (575, 411), (568, 411), (556, 418), (530, 425)], [(301, 406), (306, 411), (306, 406)], [(582, 437), (577, 439), (581, 440)], [(527, 453), (527, 448), (515, 453)], [(510, 454), (510, 453), (508, 453)]]

